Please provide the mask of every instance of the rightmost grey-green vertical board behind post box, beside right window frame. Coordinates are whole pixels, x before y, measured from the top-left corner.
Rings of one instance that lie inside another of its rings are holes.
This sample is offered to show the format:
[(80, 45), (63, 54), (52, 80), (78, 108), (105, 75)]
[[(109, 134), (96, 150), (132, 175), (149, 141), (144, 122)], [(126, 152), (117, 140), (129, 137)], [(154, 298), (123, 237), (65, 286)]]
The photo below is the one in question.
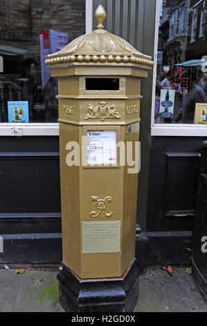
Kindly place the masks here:
[[(156, 17), (156, 1), (138, 1), (138, 33), (137, 47), (139, 51), (154, 57), (154, 26)], [(147, 42), (146, 42), (147, 40)], [(136, 44), (135, 44), (136, 45)], [(151, 113), (152, 113), (152, 83), (153, 69), (149, 71), (148, 78), (141, 81), (141, 171), (138, 174), (138, 205), (137, 221), (143, 231), (146, 230), (147, 220), (147, 197), (150, 166), (151, 146)]]

